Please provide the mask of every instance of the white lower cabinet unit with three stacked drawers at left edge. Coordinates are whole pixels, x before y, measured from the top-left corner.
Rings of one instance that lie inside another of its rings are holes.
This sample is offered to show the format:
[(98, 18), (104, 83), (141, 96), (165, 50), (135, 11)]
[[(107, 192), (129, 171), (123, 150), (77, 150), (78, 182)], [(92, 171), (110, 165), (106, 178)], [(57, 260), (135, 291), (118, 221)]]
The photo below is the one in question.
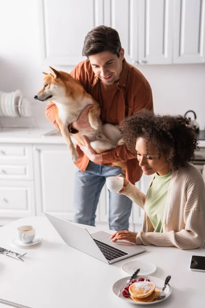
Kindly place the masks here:
[[(0, 144), (0, 225), (34, 216), (33, 153), (29, 144)], [(8, 221), (7, 220), (7, 221)]]

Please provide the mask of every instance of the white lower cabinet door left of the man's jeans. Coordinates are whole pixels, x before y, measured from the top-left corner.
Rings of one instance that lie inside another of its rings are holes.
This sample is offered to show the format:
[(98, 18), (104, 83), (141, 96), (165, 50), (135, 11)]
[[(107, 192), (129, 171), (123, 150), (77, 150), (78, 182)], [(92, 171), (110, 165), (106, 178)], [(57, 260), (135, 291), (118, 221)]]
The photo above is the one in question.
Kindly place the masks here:
[(37, 215), (47, 211), (73, 219), (75, 165), (66, 145), (34, 147), (34, 177)]

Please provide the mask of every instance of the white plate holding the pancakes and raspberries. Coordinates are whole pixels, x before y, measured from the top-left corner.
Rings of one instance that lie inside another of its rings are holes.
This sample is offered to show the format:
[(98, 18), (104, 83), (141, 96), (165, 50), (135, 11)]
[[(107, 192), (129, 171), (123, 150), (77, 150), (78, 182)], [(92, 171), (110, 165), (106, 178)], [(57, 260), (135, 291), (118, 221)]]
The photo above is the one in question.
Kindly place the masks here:
[[(138, 280), (140, 277), (143, 277), (143, 278), (145, 278), (145, 279), (150, 279), (150, 281), (151, 281), (152, 283), (154, 283), (155, 286), (156, 286), (159, 290), (162, 289), (162, 287), (163, 287), (163, 285), (164, 285), (164, 283), (165, 283), (165, 279), (166, 279), (166, 277), (165, 277), (164, 280), (162, 280), (162, 279), (159, 279), (159, 278), (156, 278), (156, 277), (152, 277), (152, 276), (137, 275), (137, 279), (136, 279), (136, 280)], [(128, 279), (130, 279), (130, 276), (129, 276), (129, 277), (125, 277), (125, 278), (121, 278), (121, 279), (117, 280), (117, 281), (113, 284), (113, 286), (112, 286), (112, 291), (113, 291), (113, 293), (114, 293), (116, 296), (117, 296), (117, 294), (119, 293), (119, 291), (121, 290), (121, 288), (125, 286), (126, 281), (127, 281)], [(131, 304), (136, 304), (136, 305), (152, 305), (152, 304), (159, 303), (159, 302), (161, 302), (161, 301), (163, 301), (163, 300), (166, 300), (166, 299), (170, 296), (171, 293), (172, 293), (172, 288), (171, 288), (171, 286), (168, 284), (167, 287), (166, 287), (166, 289), (165, 289), (166, 297), (163, 298), (163, 299), (154, 301), (154, 302), (147, 302), (147, 303), (136, 302), (136, 301), (134, 301), (134, 300), (133, 300), (132, 298), (130, 298), (130, 297), (127, 297), (127, 298), (124, 297), (122, 294), (121, 294), (120, 296), (118, 296), (118, 298), (120, 298), (121, 300), (124, 300), (124, 301), (127, 302), (127, 303), (131, 303)]]

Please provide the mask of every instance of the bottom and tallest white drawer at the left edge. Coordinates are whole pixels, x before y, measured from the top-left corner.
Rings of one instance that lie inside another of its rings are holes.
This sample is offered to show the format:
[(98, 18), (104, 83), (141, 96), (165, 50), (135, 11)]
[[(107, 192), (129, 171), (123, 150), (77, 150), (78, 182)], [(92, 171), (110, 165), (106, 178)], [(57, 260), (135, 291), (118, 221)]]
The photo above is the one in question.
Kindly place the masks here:
[(35, 215), (34, 183), (0, 180), (0, 215), (1, 217)]

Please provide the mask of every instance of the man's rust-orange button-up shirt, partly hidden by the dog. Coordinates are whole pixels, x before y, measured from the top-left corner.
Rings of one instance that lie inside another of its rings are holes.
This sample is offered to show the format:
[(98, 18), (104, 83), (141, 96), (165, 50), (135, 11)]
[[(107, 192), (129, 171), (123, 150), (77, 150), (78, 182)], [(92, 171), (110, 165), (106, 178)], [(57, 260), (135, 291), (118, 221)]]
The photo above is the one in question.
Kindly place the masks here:
[[(146, 108), (153, 110), (152, 90), (145, 76), (134, 66), (123, 61), (120, 79), (113, 85), (106, 86), (95, 76), (90, 61), (80, 62), (70, 74), (79, 80), (85, 90), (99, 103), (101, 119), (104, 123), (119, 124), (127, 115)], [(46, 107), (46, 117), (55, 127), (55, 104), (49, 102)], [(59, 129), (59, 128), (58, 128)], [(78, 161), (76, 166), (85, 171), (89, 159), (77, 146)], [(126, 145), (118, 146), (110, 151), (102, 153), (103, 165), (112, 166), (113, 162), (126, 162), (126, 178), (135, 183), (142, 175), (136, 157)]]

